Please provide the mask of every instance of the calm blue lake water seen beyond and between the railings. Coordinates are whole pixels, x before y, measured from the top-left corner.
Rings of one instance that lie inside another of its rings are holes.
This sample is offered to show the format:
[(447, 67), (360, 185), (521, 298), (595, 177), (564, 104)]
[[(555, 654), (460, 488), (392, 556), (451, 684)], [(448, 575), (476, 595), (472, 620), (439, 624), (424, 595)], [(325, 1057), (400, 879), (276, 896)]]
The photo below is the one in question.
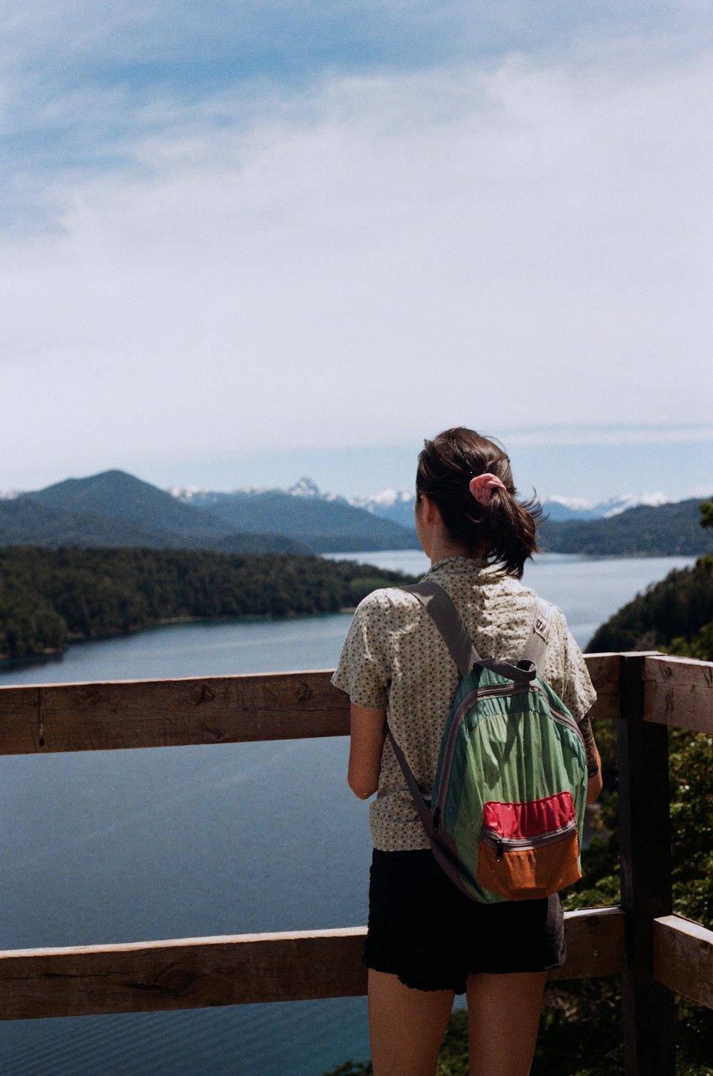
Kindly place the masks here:
[[(410, 551), (369, 558), (424, 566)], [(526, 582), (584, 643), (689, 563), (553, 555)], [(173, 625), (72, 647), (0, 685), (330, 668), (348, 623)], [(367, 808), (346, 788), (346, 753), (334, 738), (0, 760), (0, 949), (363, 923)], [(0, 1029), (2, 1076), (319, 1076), (368, 1053), (363, 999)]]

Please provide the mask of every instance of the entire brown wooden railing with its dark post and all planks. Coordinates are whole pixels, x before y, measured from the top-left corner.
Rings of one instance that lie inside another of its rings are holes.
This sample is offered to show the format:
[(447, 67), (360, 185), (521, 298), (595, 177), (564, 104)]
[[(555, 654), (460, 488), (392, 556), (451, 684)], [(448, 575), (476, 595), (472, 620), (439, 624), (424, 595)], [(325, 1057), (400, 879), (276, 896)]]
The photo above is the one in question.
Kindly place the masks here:
[[(622, 904), (566, 915), (551, 978), (624, 975), (627, 1076), (672, 1076), (673, 994), (713, 1008), (713, 932), (671, 914), (667, 725), (713, 734), (713, 664), (591, 654), (593, 718), (616, 719)], [(0, 688), (0, 754), (340, 736), (329, 672)], [(0, 952), (0, 1019), (366, 992), (363, 928)]]

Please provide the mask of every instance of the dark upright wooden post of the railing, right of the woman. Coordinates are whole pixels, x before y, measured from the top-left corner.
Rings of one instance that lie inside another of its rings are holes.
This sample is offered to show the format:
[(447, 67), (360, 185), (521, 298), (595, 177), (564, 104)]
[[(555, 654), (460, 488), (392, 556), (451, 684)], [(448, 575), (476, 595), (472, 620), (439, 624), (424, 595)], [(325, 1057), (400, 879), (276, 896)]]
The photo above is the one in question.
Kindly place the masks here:
[(654, 979), (653, 921), (671, 914), (668, 728), (644, 721), (644, 654), (622, 655), (617, 722), (626, 1076), (674, 1076), (673, 994)]

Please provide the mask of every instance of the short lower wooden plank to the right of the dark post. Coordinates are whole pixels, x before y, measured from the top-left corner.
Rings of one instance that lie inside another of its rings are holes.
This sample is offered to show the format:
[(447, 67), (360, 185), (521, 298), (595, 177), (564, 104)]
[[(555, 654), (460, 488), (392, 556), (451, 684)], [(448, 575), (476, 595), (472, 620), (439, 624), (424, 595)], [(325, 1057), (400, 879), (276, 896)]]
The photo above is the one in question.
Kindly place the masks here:
[(682, 916), (654, 920), (654, 976), (713, 1008), (713, 931)]

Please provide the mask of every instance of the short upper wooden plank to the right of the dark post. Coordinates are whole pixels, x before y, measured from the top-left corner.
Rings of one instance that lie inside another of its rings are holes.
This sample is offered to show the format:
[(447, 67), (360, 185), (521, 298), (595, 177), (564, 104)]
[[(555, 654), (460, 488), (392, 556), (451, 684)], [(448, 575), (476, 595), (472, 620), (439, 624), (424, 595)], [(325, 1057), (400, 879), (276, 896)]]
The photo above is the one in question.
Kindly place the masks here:
[(644, 716), (655, 724), (713, 734), (713, 662), (646, 657)]

